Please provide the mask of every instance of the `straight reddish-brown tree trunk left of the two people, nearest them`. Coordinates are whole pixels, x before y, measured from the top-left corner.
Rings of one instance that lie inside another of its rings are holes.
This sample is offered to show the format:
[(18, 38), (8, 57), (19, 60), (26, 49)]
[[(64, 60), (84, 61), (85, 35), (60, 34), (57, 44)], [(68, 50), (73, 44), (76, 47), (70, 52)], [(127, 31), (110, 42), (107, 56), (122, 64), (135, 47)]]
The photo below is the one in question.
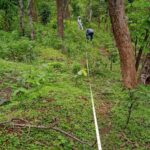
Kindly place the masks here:
[(64, 37), (64, 27), (63, 27), (63, 1), (56, 0), (57, 5), (57, 25), (58, 25), (58, 35), (63, 39)]

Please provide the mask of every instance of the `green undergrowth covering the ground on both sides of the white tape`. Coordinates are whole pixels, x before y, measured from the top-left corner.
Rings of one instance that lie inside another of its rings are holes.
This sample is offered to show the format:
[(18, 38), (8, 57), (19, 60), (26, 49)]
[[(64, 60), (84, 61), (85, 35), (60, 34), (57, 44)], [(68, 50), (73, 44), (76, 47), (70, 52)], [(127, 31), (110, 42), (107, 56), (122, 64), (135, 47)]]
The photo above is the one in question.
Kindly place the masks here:
[(85, 41), (74, 21), (65, 22), (64, 41), (53, 22), (36, 25), (35, 41), (28, 35), (20, 39), (17, 31), (0, 31), (0, 99), (6, 101), (0, 106), (0, 122), (58, 122), (60, 129), (92, 146), (50, 129), (0, 126), (1, 149), (96, 149), (86, 52), (103, 149), (149, 149), (150, 87), (123, 88), (110, 32), (90, 26), (93, 42)]

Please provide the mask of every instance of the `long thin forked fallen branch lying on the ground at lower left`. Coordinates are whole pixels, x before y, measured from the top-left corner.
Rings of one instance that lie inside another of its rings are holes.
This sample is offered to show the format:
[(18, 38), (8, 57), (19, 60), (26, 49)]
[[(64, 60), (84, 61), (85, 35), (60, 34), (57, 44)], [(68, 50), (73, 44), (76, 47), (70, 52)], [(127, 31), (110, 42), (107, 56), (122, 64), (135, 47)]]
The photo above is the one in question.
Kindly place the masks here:
[(36, 128), (36, 129), (52, 129), (54, 131), (57, 131), (59, 133), (62, 133), (70, 138), (72, 138), (73, 140), (75, 141), (78, 141), (79, 143), (81, 144), (86, 144), (88, 146), (91, 146), (90, 144), (88, 144), (86, 141), (82, 141), (80, 140), (79, 138), (77, 138), (76, 136), (60, 129), (60, 128), (57, 128), (55, 127), (56, 123), (54, 122), (53, 124), (51, 124), (50, 126), (43, 126), (43, 125), (31, 125), (31, 124), (18, 124), (18, 123), (14, 123), (12, 121), (6, 121), (6, 122), (1, 122), (0, 125), (6, 125), (8, 124), (9, 126), (13, 126), (13, 127), (20, 127), (20, 128)]

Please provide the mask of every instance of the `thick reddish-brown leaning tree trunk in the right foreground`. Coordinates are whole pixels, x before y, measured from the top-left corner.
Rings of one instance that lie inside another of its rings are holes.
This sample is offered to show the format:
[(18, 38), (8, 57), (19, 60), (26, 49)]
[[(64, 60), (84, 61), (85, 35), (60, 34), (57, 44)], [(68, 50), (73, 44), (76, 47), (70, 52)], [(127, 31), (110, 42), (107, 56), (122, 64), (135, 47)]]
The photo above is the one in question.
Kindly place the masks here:
[(109, 0), (109, 15), (119, 50), (123, 83), (126, 88), (131, 89), (136, 86), (137, 77), (135, 56), (125, 20), (124, 0)]

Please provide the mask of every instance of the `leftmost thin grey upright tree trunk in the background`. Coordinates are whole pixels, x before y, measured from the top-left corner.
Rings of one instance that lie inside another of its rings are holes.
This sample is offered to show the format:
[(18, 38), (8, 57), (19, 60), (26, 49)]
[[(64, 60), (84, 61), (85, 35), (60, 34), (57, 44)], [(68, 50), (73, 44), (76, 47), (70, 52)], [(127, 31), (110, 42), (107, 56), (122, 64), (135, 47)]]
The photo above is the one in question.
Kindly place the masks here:
[(20, 33), (22, 36), (24, 36), (24, 4), (23, 4), (23, 0), (19, 0), (19, 15), (20, 15)]

